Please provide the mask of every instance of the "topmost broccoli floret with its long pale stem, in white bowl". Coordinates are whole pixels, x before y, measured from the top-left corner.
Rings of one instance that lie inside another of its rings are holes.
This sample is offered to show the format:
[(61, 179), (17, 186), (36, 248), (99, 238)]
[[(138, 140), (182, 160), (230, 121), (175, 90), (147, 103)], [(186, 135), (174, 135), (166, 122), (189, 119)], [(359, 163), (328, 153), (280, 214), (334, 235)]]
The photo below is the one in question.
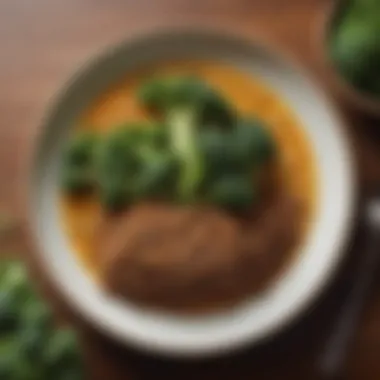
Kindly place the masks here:
[(142, 104), (165, 118), (171, 149), (181, 165), (177, 193), (182, 200), (193, 200), (205, 171), (197, 129), (228, 128), (233, 124), (234, 113), (223, 98), (194, 77), (150, 80), (140, 88), (138, 96)]

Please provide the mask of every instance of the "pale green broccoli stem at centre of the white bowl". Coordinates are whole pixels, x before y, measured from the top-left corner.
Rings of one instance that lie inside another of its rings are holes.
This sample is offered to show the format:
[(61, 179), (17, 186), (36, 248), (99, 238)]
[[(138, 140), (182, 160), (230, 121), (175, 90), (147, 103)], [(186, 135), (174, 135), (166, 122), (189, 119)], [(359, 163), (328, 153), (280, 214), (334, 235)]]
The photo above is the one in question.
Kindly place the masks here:
[(191, 201), (203, 178), (204, 165), (196, 141), (196, 113), (188, 108), (175, 108), (168, 115), (171, 146), (181, 165), (178, 195)]

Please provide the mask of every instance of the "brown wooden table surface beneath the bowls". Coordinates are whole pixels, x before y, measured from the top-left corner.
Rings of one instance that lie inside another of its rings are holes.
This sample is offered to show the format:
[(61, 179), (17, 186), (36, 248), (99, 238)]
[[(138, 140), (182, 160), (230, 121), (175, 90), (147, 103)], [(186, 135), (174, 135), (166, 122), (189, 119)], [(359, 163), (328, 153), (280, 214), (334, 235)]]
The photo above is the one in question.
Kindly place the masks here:
[[(0, 2), (0, 207), (23, 220), (24, 152), (38, 130), (49, 97), (72, 69), (110, 42), (157, 25), (204, 23), (223, 25), (245, 34), (255, 31), (288, 46), (317, 75), (323, 70), (315, 53), (318, 18), (328, 0), (1, 0)], [(327, 84), (328, 85), (328, 84)], [(341, 104), (349, 117), (359, 165), (362, 204), (380, 180), (380, 134)], [(0, 214), (1, 215), (1, 214)], [(271, 342), (233, 357), (197, 363), (148, 358), (100, 337), (61, 307), (45, 284), (58, 313), (83, 332), (91, 379), (258, 379), (318, 378), (315, 360), (331, 328), (341, 299), (355, 275), (363, 251), (365, 229), (358, 223), (347, 261), (325, 296), (290, 330)], [(6, 249), (27, 246), (16, 230), (2, 241)], [(376, 293), (376, 292), (375, 292)], [(346, 379), (380, 378), (380, 294), (368, 304)]]

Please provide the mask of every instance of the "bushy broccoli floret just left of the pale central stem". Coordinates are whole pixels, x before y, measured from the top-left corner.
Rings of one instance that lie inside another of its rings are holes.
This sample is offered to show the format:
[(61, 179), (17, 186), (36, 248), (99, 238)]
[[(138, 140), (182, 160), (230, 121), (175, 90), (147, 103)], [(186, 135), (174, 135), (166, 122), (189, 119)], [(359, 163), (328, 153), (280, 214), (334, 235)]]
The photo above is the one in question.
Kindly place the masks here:
[(99, 144), (98, 187), (101, 202), (109, 211), (170, 192), (177, 176), (177, 161), (168, 149), (167, 128), (161, 124), (125, 124)]

